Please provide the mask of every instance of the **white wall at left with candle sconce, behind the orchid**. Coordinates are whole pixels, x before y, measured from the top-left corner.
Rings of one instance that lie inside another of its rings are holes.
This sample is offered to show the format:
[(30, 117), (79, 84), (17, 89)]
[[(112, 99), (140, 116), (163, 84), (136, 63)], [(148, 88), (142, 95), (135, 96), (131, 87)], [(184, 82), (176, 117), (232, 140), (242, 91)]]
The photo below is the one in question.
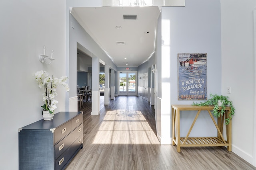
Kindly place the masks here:
[[(42, 89), (34, 78), (46, 70), (60, 78), (65, 75), (65, 1), (1, 0), (0, 10), (0, 169), (18, 169), (18, 129), (42, 119)], [(55, 61), (38, 60), (54, 49)], [(65, 92), (57, 89), (56, 112), (65, 111)]]

